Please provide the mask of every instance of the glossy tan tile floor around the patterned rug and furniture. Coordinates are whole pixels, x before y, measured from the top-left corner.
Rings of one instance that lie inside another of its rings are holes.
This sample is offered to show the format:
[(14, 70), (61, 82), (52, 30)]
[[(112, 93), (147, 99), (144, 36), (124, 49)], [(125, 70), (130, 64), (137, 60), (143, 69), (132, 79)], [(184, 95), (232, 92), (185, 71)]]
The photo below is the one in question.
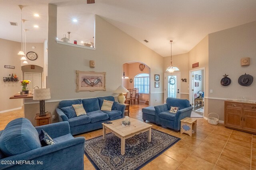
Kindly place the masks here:
[[(130, 106), (130, 117), (142, 121), (141, 109), (147, 106), (141, 103)], [(23, 110), (1, 113), (0, 130), (17, 117), (24, 117)], [(210, 125), (205, 119), (198, 119), (197, 133), (192, 137), (150, 124), (154, 129), (181, 140), (144, 166), (143, 170), (256, 170), (256, 135), (228, 129), (222, 124)], [(88, 140), (101, 135), (102, 129), (99, 129), (75, 137), (82, 136)], [(94, 170), (86, 156), (84, 169)]]

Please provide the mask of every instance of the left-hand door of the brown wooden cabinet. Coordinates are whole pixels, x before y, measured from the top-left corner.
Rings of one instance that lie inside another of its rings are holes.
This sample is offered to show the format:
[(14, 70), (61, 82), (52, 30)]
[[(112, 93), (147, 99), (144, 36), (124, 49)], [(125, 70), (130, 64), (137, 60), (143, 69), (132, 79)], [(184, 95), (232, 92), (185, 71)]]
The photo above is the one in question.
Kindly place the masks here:
[(242, 128), (242, 109), (226, 108), (225, 125)]

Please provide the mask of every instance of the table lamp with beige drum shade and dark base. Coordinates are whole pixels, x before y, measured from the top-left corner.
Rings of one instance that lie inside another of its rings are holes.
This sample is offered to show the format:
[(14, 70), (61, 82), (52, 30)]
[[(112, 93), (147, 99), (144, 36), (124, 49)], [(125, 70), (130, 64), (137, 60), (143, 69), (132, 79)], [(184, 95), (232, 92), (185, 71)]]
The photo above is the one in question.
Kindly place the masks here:
[(40, 100), (40, 115), (45, 116), (45, 103), (44, 100), (50, 99), (50, 88), (38, 88), (33, 90), (33, 100)]

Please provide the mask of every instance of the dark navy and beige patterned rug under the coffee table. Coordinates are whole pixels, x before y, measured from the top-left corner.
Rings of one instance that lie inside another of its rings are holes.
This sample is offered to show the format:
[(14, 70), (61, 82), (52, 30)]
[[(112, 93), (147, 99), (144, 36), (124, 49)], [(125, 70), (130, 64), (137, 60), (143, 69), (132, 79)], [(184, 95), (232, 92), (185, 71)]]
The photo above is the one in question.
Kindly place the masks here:
[(97, 170), (138, 170), (177, 143), (180, 138), (152, 129), (125, 140), (125, 154), (121, 155), (121, 139), (108, 133), (87, 140), (84, 153)]

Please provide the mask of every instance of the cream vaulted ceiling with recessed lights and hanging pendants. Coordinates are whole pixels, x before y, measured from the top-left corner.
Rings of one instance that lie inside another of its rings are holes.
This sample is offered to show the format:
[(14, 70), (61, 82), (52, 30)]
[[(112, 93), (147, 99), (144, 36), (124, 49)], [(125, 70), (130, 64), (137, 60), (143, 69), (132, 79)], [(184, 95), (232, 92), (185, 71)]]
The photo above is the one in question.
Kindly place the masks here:
[[(20, 41), (18, 5), (26, 6), (22, 18), (28, 20), (25, 22), (25, 28), (30, 30), (27, 42), (47, 39), (48, 3), (53, 3), (60, 10), (58, 25), (62, 31), (58, 36), (71, 29), (70, 24), (62, 21), (70, 22), (76, 17), (93, 24), (90, 18), (97, 14), (163, 57), (170, 55), (170, 39), (173, 55), (187, 53), (209, 33), (256, 20), (256, 0), (95, 1), (86, 4), (86, 0), (0, 0), (0, 38)], [(35, 18), (34, 13), (40, 17)], [(10, 21), (17, 22), (18, 27), (11, 26)], [(90, 24), (87, 26), (91, 29)], [(84, 40), (91, 39), (92, 31), (86, 31), (90, 32), (87, 35), (83, 29), (73, 29), (76, 34), (83, 34)], [(145, 43), (144, 39), (149, 42)]]

